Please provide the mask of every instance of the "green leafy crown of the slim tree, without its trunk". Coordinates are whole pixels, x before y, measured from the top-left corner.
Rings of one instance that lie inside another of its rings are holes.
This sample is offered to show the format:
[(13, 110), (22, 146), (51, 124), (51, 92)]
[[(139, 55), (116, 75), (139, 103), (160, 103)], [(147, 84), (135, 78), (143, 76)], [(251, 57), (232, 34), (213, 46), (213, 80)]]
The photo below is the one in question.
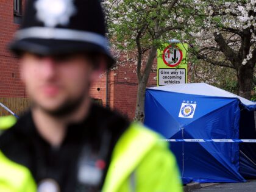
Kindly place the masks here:
[[(183, 0), (168, 9), (172, 1), (163, 0), (108, 0), (108, 37), (118, 49), (137, 49), (136, 39), (142, 49), (160, 47), (172, 38), (181, 39), (179, 29), (187, 27), (194, 10), (188, 7), (192, 0)], [(164, 30), (162, 32), (162, 30)], [(188, 38), (188, 36), (186, 37)]]

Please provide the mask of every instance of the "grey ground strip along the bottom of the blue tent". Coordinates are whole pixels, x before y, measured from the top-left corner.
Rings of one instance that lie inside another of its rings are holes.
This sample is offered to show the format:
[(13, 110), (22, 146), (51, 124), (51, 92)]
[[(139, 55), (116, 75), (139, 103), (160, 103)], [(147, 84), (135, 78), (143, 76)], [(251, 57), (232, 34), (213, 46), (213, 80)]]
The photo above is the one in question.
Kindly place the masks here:
[(184, 192), (253, 192), (256, 191), (256, 180), (244, 183), (188, 183), (183, 187)]

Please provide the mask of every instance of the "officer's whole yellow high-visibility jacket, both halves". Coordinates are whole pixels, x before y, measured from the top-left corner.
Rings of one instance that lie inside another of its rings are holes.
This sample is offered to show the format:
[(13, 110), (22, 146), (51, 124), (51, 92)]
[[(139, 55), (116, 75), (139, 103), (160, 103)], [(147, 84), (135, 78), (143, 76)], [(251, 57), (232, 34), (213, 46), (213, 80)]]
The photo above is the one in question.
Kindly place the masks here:
[[(116, 143), (102, 191), (182, 191), (176, 160), (159, 138), (140, 124), (131, 124)], [(1, 151), (0, 191), (37, 191), (29, 169), (10, 161)]]

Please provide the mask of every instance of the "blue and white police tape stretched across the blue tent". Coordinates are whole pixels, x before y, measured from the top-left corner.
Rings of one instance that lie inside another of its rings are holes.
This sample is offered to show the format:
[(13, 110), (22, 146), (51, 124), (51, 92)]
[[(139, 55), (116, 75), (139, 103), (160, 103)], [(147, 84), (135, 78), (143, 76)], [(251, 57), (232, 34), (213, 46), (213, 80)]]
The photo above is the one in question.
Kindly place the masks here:
[(215, 143), (256, 143), (256, 140), (240, 140), (240, 139), (161, 139), (161, 141), (166, 142), (196, 142), (196, 143), (205, 143), (205, 142), (215, 142)]

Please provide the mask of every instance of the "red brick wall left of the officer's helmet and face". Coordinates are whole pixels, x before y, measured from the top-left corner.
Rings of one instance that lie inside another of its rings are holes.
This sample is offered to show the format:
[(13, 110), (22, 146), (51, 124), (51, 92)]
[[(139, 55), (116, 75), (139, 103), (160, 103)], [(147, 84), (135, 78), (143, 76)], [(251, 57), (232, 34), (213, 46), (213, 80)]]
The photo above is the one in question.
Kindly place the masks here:
[(13, 1), (0, 0), (0, 97), (23, 98), (24, 85), (20, 82), (17, 59), (7, 50), (19, 25), (13, 23)]

